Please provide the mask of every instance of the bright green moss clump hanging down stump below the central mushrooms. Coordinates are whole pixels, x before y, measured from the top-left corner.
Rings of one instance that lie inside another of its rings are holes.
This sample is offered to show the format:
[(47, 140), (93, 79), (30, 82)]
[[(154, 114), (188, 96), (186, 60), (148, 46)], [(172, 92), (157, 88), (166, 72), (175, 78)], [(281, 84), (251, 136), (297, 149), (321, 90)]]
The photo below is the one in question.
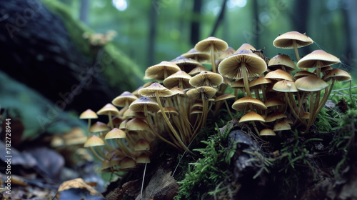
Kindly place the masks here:
[(216, 126), (217, 133), (209, 136), (208, 140), (201, 141), (206, 147), (194, 149), (203, 157), (189, 164), (185, 179), (179, 182), (181, 186), (175, 199), (201, 199), (204, 194), (202, 191), (211, 190), (208, 195), (215, 195), (226, 189), (224, 186), (221, 188), (217, 186), (222, 185), (229, 177), (231, 172), (228, 167), (236, 152), (235, 147), (231, 149), (226, 147), (230, 130), (227, 128), (222, 134)]

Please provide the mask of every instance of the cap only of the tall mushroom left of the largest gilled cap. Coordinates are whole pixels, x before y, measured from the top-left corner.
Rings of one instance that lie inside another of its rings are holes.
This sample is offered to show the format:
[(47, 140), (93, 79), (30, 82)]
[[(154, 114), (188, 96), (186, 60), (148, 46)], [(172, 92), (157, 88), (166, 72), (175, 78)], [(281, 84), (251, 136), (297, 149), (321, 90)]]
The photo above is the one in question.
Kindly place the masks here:
[(226, 49), (228, 49), (228, 44), (226, 41), (213, 36), (198, 41), (198, 43), (195, 45), (195, 49), (199, 52), (209, 52), (211, 45), (213, 45), (214, 52), (226, 51)]

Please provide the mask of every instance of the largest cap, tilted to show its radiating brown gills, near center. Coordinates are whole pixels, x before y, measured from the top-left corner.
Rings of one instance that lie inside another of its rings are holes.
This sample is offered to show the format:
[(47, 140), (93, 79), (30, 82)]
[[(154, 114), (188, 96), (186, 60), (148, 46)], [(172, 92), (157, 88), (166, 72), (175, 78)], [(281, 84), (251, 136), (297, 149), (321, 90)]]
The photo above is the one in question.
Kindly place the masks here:
[(248, 77), (259, 76), (266, 71), (266, 62), (261, 57), (243, 49), (223, 59), (218, 65), (218, 72), (229, 79), (241, 79), (243, 78), (242, 63), (246, 64)]

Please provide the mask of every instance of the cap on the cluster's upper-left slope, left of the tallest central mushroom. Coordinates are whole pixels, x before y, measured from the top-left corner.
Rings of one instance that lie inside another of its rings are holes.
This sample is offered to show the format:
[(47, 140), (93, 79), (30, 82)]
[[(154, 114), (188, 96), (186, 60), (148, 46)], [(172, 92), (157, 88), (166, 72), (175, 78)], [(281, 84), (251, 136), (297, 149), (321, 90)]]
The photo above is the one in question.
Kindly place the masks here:
[(181, 69), (174, 63), (169, 61), (161, 61), (161, 63), (154, 66), (149, 66), (145, 71), (145, 77), (148, 79), (156, 79), (159, 81), (164, 80), (164, 71), (166, 70), (167, 76), (174, 74)]

